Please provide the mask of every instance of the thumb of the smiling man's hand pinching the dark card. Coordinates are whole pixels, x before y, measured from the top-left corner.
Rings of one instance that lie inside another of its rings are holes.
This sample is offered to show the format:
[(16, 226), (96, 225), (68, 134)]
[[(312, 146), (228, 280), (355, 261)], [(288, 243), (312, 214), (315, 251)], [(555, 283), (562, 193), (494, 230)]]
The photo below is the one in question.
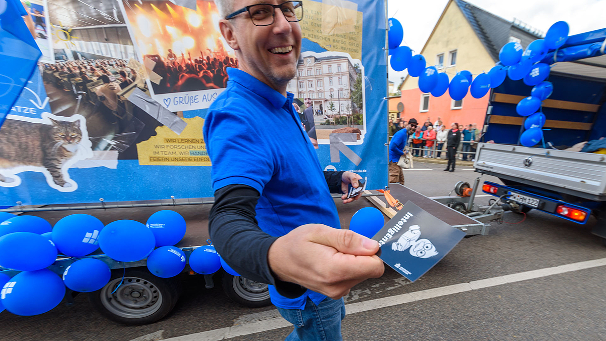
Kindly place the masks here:
[(379, 243), (376, 240), (364, 237), (351, 230), (330, 228), (322, 232), (315, 235), (312, 241), (331, 246), (344, 254), (374, 255), (379, 251)]

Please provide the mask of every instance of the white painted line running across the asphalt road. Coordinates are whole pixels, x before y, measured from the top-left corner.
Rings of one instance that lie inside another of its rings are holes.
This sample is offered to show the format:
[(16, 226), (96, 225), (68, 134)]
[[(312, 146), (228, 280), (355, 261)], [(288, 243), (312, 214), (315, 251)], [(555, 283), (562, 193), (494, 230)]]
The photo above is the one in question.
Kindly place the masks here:
[[(564, 274), (566, 272), (579, 271), (582, 269), (598, 268), (599, 266), (605, 265), (606, 258), (599, 258), (594, 260), (587, 260), (585, 262), (552, 266), (551, 268), (518, 272), (516, 274), (491, 277), (489, 279), (476, 280), (468, 283), (459, 283), (455, 285), (442, 286), (440, 288), (410, 292), (408, 294), (382, 297), (381, 299), (350, 303), (345, 305), (345, 311), (347, 311), (347, 315), (356, 314), (356, 312), (381, 309), (386, 308), (388, 306), (401, 305), (404, 303), (433, 299), (435, 297), (458, 294), (459, 292), (490, 288), (491, 286), (522, 282), (525, 280), (538, 279), (541, 277), (547, 277), (557, 274)], [(203, 331), (202, 333), (172, 337), (170, 339), (165, 339), (165, 341), (220, 341), (225, 339), (231, 339), (232, 337), (261, 333), (264, 331), (285, 328), (288, 326), (291, 326), (291, 323), (287, 322), (287, 320), (282, 319), (282, 317), (275, 317), (267, 320), (245, 323), (244, 325), (235, 325), (227, 328)]]

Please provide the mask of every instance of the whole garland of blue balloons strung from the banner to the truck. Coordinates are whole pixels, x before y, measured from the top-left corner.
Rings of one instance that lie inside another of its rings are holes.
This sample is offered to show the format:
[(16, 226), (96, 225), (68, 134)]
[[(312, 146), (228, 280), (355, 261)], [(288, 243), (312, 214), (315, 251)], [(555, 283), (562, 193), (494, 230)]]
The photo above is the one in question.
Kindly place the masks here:
[[(388, 23), (391, 68), (396, 71), (408, 69), (408, 75), (419, 77), (419, 89), (422, 92), (439, 97), (448, 90), (450, 97), (457, 101), (462, 100), (468, 92), (474, 98), (482, 98), (491, 88), (500, 86), (507, 76), (514, 81), (524, 79), (525, 84), (534, 86), (531, 94), (534, 99), (529, 100), (529, 97), (522, 100), (516, 109), (520, 115), (529, 116), (525, 121), (527, 131), (522, 133), (521, 143), (524, 146), (534, 146), (541, 141), (545, 116), (537, 110), (541, 107), (541, 101), (550, 96), (553, 90), (551, 83), (545, 81), (549, 76), (550, 66), (541, 61), (549, 50), (558, 49), (566, 42), (566, 22), (559, 21), (551, 25), (545, 38), (531, 42), (526, 50), (519, 42), (508, 42), (499, 52), (499, 62), (488, 73), (480, 73), (473, 78), (471, 72), (463, 70), (451, 80), (447, 73), (438, 72), (436, 67), (426, 67), (424, 56), (413, 56), (409, 47), (400, 46), (404, 36), (402, 25), (394, 18), (390, 18)], [(534, 113), (536, 115), (533, 115)]]

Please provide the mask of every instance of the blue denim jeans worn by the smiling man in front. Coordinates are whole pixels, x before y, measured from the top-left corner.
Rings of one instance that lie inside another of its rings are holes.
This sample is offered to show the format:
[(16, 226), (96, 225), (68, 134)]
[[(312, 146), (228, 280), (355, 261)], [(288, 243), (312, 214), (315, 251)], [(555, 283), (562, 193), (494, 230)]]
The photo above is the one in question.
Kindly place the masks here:
[(285, 341), (341, 341), (341, 320), (345, 318), (343, 299), (324, 299), (318, 305), (307, 299), (305, 309), (278, 311), (285, 320), (295, 325)]

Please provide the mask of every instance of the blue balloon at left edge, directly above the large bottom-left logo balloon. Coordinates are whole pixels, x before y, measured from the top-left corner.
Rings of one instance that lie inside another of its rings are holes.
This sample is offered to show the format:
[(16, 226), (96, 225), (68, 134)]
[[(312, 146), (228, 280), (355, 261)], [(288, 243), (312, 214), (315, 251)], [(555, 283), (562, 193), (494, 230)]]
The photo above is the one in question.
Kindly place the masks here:
[(32, 232), (15, 232), (0, 237), (0, 266), (18, 271), (44, 269), (55, 263), (53, 242)]

